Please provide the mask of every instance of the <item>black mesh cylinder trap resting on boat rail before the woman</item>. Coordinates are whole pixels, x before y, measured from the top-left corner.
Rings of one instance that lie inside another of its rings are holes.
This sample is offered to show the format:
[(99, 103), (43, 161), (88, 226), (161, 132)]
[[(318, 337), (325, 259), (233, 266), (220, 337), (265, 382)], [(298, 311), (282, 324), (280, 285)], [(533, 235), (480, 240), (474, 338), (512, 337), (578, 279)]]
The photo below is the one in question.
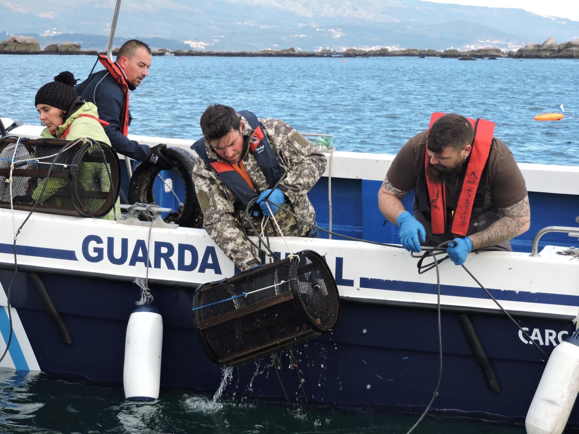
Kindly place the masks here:
[[(91, 139), (0, 141), (0, 207), (100, 218), (119, 195), (119, 159), (111, 146)], [(54, 163), (54, 164), (52, 164)], [(52, 170), (49, 174), (49, 168)]]

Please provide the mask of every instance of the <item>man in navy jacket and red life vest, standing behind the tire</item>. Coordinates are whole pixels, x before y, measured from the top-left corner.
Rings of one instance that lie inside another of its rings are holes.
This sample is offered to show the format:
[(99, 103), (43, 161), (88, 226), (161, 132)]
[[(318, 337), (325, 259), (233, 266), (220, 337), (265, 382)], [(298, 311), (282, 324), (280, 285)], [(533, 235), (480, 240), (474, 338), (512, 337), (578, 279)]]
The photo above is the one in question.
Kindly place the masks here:
[[(151, 49), (146, 43), (131, 39), (120, 47), (116, 62), (112, 63), (102, 55), (99, 60), (105, 67), (104, 71), (91, 74), (85, 82), (76, 86), (76, 91), (86, 102), (93, 102), (97, 106), (98, 117), (109, 123), (105, 133), (113, 149), (133, 160), (150, 161), (160, 170), (170, 170), (173, 164), (161, 152), (166, 145), (151, 148), (127, 137), (131, 120), (129, 90), (135, 90), (149, 75)], [(124, 202), (122, 196), (121, 201)]]

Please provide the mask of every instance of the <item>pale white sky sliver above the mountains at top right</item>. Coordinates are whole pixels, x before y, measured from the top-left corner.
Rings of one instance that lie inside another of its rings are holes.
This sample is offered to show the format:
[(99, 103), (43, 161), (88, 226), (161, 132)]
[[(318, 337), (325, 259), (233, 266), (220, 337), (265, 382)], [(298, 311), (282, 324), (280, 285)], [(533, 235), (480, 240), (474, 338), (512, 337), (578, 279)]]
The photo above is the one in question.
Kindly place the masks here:
[(455, 5), (489, 6), (490, 8), (519, 8), (543, 16), (562, 17), (579, 21), (579, 0), (428, 0)]

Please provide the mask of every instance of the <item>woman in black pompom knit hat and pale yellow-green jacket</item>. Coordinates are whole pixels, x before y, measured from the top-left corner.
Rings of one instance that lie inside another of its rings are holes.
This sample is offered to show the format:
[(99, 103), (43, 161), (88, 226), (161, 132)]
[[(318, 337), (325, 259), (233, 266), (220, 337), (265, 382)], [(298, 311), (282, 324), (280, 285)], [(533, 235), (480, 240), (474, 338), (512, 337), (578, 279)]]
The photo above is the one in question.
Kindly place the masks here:
[[(102, 128), (107, 126), (108, 122), (98, 119), (96, 105), (85, 102), (82, 97), (76, 95), (75, 84), (74, 75), (71, 72), (63, 71), (54, 77), (53, 82), (46, 83), (36, 93), (34, 104), (42, 124), (46, 126), (42, 130), (41, 136), (47, 139), (67, 140), (87, 137), (111, 146), (111, 142)], [(32, 198), (38, 200), (42, 188), (44, 188), (41, 200), (45, 201), (67, 182), (63, 178), (53, 178), (52, 176), (45, 178), (32, 192)], [(43, 186), (43, 183), (47, 183), (46, 187)], [(104, 218), (113, 219), (112, 211)]]

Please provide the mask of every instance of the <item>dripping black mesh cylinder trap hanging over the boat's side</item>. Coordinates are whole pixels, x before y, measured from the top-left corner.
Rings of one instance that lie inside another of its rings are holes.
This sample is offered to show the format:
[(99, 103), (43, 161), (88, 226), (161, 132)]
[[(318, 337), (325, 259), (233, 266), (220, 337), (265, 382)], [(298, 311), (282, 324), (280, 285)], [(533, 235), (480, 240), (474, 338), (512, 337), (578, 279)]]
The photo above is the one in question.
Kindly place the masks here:
[(199, 286), (193, 308), (211, 361), (237, 366), (334, 330), (340, 296), (324, 258), (303, 251)]

